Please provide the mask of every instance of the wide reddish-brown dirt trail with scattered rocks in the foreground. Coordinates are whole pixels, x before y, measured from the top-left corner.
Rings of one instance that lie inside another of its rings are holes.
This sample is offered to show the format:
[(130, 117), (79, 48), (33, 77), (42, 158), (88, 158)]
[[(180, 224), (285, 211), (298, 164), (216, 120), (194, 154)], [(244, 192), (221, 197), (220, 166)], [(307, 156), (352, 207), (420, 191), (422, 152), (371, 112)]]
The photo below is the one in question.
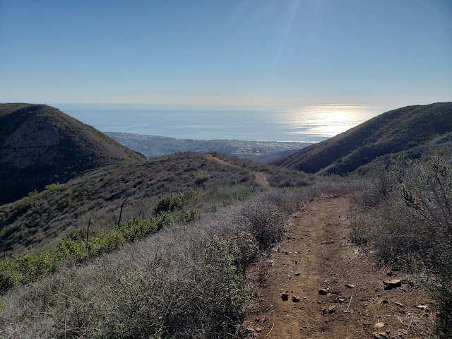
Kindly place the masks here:
[[(292, 216), (244, 323), (251, 338), (429, 337), (436, 316), (429, 292), (350, 245), (349, 213), (347, 198), (338, 197), (313, 201)], [(394, 278), (405, 280), (385, 290), (383, 279)]]

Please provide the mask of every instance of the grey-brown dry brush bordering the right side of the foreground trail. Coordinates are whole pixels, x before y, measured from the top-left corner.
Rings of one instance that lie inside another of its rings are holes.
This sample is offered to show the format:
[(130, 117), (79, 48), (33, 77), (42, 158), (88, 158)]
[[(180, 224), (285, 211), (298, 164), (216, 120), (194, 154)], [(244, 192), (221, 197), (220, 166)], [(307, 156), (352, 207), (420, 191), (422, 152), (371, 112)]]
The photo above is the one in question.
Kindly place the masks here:
[[(452, 163), (399, 159), (356, 192), (352, 240), (379, 251), (384, 265), (422, 281), (441, 309), (439, 338), (452, 333)], [(384, 192), (385, 194), (382, 194)]]

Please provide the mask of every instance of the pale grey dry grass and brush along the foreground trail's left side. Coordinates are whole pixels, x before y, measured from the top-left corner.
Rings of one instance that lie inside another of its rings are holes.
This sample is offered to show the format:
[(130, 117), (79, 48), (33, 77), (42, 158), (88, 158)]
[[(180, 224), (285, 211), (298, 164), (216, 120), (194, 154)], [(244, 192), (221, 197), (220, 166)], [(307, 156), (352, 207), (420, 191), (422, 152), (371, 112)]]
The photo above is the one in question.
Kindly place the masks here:
[[(272, 189), (162, 230), (1, 299), (15, 338), (232, 338), (251, 297), (246, 269), (283, 235), (288, 215), (319, 196), (360, 189), (326, 179)], [(264, 251), (264, 252), (262, 252)]]

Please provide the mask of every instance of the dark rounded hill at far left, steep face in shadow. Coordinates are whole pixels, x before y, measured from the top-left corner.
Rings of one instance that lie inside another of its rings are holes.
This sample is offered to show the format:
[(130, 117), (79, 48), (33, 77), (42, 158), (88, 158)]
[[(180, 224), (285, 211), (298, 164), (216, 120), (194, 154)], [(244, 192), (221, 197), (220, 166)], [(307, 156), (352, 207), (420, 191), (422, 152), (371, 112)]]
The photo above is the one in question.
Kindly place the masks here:
[(47, 105), (0, 104), (0, 204), (140, 155)]

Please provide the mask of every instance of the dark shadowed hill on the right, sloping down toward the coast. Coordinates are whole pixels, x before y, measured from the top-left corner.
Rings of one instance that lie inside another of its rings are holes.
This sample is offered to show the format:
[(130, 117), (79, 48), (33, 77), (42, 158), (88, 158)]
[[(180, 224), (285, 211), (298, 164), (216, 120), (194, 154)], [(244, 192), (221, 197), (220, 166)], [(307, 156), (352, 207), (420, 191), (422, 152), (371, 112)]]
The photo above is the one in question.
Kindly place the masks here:
[(452, 102), (408, 106), (383, 113), (272, 164), (309, 173), (345, 174), (381, 155), (420, 150), (420, 146), (435, 141), (439, 143), (434, 148), (449, 145), (450, 138), (441, 136), (451, 131)]

